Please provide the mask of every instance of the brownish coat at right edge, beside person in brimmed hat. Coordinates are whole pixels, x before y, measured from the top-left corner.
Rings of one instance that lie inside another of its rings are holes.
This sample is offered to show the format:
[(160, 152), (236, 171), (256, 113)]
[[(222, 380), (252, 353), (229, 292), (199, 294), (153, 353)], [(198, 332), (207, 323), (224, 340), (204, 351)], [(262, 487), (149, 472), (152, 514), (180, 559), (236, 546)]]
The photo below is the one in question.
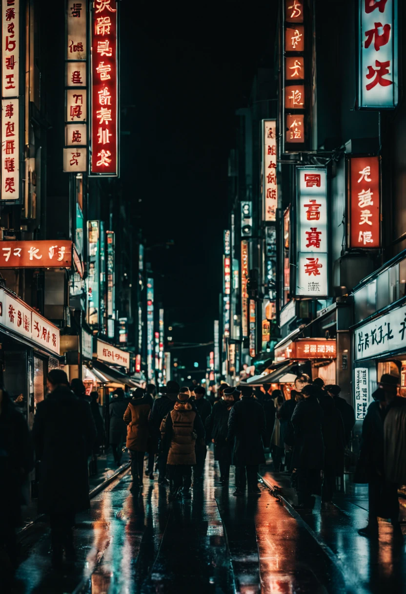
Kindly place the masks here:
[(406, 484), (406, 398), (391, 403), (383, 422), (383, 466), (385, 478)]

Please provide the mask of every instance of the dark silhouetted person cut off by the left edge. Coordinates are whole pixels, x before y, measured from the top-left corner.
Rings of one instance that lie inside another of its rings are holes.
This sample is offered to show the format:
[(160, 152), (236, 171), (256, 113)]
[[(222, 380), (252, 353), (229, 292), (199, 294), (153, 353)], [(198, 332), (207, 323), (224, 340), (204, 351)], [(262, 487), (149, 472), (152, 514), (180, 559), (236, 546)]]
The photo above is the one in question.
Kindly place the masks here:
[[(27, 421), (0, 387), (0, 567), (9, 573), (17, 563), (15, 528), (21, 525), (21, 505), (34, 450)], [(4, 584), (3, 584), (4, 585)]]

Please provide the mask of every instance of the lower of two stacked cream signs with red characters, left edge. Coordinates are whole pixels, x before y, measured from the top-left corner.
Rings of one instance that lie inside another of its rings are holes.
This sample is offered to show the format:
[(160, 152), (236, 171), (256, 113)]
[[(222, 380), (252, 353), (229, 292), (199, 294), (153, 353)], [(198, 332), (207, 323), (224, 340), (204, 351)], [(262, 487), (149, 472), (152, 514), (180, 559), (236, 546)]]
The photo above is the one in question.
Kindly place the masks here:
[(18, 99), (2, 99), (1, 199), (20, 198)]

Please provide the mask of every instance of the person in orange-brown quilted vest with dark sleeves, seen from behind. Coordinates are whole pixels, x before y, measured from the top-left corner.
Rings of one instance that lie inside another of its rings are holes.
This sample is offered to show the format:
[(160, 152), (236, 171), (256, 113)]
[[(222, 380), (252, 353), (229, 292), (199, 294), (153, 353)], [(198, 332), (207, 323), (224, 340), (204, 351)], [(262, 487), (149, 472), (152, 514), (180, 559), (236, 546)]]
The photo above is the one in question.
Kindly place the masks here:
[(200, 415), (189, 402), (189, 390), (179, 392), (173, 410), (161, 422), (164, 449), (168, 451), (167, 466), (171, 481), (169, 500), (180, 494), (191, 499), (192, 466), (196, 464), (195, 441), (204, 440)]

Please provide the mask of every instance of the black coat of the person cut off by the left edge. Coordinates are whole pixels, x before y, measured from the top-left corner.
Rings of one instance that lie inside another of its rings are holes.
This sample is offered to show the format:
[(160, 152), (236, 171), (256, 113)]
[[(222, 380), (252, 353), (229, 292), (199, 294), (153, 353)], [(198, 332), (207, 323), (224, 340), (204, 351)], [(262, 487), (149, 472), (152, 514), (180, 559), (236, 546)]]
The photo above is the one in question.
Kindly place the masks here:
[(34, 466), (34, 449), (27, 421), (3, 393), (0, 414), (0, 524), (21, 523), (23, 487)]

